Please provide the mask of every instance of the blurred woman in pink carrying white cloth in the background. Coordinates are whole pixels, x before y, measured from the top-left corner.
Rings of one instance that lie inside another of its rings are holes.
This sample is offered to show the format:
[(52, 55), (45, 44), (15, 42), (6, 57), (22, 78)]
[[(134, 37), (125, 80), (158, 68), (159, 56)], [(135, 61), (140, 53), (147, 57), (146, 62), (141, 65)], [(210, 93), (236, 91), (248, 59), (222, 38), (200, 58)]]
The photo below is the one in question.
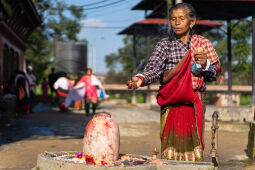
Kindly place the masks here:
[(85, 111), (86, 115), (90, 114), (90, 105), (92, 104), (92, 114), (96, 113), (98, 104), (97, 89), (102, 89), (101, 82), (92, 74), (92, 69), (88, 68), (86, 74), (81, 78), (81, 82), (85, 83)]

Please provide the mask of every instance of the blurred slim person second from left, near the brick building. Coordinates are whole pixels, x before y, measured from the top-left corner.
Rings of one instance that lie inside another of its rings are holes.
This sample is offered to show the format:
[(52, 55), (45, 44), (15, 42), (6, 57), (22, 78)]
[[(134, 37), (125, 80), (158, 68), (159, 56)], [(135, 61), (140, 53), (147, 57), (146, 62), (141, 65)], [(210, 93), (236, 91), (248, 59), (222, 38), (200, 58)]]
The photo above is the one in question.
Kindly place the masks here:
[(37, 85), (37, 78), (34, 74), (33, 67), (27, 67), (26, 77), (29, 82), (29, 89), (30, 89), (30, 111), (32, 112), (32, 106), (35, 104), (35, 96), (36, 96), (36, 85)]

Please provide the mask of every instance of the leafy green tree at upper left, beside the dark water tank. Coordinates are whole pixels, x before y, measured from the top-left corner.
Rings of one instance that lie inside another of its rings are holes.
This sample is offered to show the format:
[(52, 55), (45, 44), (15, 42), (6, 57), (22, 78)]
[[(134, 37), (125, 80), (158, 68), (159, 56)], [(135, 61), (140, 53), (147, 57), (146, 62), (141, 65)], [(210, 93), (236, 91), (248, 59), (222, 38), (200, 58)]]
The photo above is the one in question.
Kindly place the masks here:
[(82, 7), (67, 5), (60, 0), (34, 0), (43, 23), (27, 40), (25, 59), (42, 79), (54, 64), (55, 43), (77, 40), (80, 20), (85, 17)]

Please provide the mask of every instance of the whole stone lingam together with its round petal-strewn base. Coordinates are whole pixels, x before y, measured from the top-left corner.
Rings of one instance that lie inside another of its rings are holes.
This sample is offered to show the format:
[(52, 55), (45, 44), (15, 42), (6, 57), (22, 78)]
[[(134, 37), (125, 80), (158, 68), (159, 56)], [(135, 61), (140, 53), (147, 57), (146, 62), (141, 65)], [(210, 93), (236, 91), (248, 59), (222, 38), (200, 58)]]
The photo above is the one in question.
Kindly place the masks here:
[(119, 154), (118, 124), (110, 114), (96, 114), (84, 133), (83, 152), (44, 152), (33, 170), (212, 170), (212, 163), (160, 160), (156, 149), (149, 156)]

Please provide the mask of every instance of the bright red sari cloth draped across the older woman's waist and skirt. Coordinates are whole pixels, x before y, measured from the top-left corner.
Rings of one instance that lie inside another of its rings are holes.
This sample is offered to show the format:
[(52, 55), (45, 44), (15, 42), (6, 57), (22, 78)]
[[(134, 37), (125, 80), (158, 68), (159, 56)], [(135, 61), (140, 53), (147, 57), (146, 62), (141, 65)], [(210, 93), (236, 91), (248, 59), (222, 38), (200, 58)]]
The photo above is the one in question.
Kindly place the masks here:
[[(198, 97), (198, 94), (193, 91), (192, 87), (192, 79), (191, 79), (191, 52), (189, 53), (188, 58), (181, 66), (180, 71), (177, 75), (175, 75), (168, 83), (162, 85), (158, 91), (157, 102), (160, 106), (167, 106), (171, 104), (190, 104), (194, 103), (195, 109), (190, 106), (181, 106), (181, 107), (172, 107), (171, 113), (166, 121), (165, 129), (163, 131), (162, 139), (165, 135), (168, 135), (170, 126), (172, 126), (172, 122), (169, 121), (170, 115), (182, 112), (180, 115), (183, 115), (183, 119), (180, 118), (178, 121), (184, 120), (185, 115), (194, 115), (196, 113), (197, 119), (197, 127), (199, 131), (200, 141), (202, 144), (202, 148), (204, 148), (203, 141), (202, 141), (202, 129), (203, 129), (203, 110), (202, 104)], [(193, 116), (194, 117), (194, 116)], [(195, 117), (194, 117), (195, 118)], [(186, 119), (186, 118), (185, 118)], [(193, 118), (191, 118), (193, 119)], [(190, 125), (193, 125), (195, 120), (191, 120)], [(182, 122), (178, 122), (179, 125), (182, 125)], [(171, 124), (171, 125), (170, 125)], [(188, 128), (185, 129), (183, 126), (175, 127), (177, 129), (178, 134), (180, 136), (185, 136), (185, 134), (190, 133)]]

